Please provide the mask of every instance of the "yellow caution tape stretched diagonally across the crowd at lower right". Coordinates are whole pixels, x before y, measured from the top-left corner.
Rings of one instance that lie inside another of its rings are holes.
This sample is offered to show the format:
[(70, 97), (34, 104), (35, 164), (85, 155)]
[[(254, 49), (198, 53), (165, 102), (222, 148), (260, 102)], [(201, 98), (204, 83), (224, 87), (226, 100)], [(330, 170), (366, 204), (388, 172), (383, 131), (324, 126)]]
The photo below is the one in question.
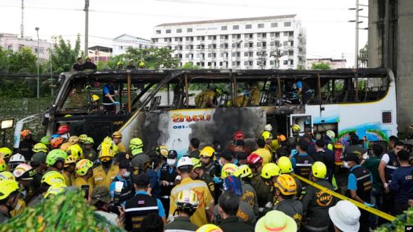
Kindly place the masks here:
[(295, 173), (291, 173), (292, 176), (295, 176), (296, 178), (298, 178), (299, 180), (301, 180), (302, 182), (306, 182), (307, 184), (310, 184), (311, 186), (320, 189), (322, 191), (325, 191), (327, 193), (330, 193), (332, 196), (335, 196), (336, 198), (339, 198), (341, 200), (348, 200), (349, 202), (352, 202), (353, 204), (355, 204), (357, 207), (359, 207), (360, 209), (364, 209), (366, 211), (369, 211), (370, 213), (373, 213), (374, 215), (379, 216), (380, 218), (384, 218), (385, 220), (389, 220), (390, 222), (394, 219), (396, 219), (396, 217), (388, 214), (388, 213), (384, 213), (382, 211), (379, 211), (378, 209), (374, 209), (372, 207), (368, 207), (366, 204), (363, 204), (361, 202), (358, 202), (356, 200), (352, 200), (351, 198), (348, 198), (346, 196), (341, 195), (340, 193), (336, 193), (335, 191), (331, 191), (330, 189), (327, 189), (326, 187), (322, 187), (319, 184), (316, 184), (315, 182), (312, 182), (310, 180), (307, 180), (306, 178), (303, 178), (301, 176), (298, 176)]

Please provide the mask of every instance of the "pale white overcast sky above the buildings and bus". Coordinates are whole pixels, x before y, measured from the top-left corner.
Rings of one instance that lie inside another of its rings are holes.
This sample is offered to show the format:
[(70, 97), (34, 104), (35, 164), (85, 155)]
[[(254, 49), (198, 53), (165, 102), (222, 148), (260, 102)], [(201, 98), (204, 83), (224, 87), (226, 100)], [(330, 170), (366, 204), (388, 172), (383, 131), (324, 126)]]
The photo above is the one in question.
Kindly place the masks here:
[[(112, 46), (121, 34), (150, 39), (161, 23), (297, 14), (307, 32), (307, 58), (347, 60), (354, 65), (355, 0), (89, 0), (89, 47)], [(63, 36), (74, 41), (85, 33), (85, 0), (24, 0), (24, 36)], [(367, 5), (368, 0), (359, 0)], [(368, 16), (361, 6), (360, 15)], [(359, 28), (367, 28), (366, 18)], [(21, 0), (0, 0), (0, 33), (20, 34)], [(359, 48), (368, 31), (359, 30)], [(83, 48), (83, 45), (82, 45)]]

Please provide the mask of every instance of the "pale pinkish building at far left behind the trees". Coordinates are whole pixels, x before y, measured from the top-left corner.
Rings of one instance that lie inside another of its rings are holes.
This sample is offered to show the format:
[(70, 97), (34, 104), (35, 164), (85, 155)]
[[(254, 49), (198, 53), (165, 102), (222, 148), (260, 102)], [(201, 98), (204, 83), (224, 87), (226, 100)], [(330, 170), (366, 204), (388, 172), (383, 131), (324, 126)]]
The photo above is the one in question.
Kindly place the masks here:
[[(30, 38), (19, 38), (17, 34), (0, 33), (0, 46), (6, 50), (12, 50), (13, 52), (19, 52), (21, 48), (27, 47), (32, 49), (33, 53), (37, 56), (37, 40)], [(47, 40), (39, 39), (39, 59), (48, 60), (50, 56), (50, 50), (52, 50), (52, 43)]]

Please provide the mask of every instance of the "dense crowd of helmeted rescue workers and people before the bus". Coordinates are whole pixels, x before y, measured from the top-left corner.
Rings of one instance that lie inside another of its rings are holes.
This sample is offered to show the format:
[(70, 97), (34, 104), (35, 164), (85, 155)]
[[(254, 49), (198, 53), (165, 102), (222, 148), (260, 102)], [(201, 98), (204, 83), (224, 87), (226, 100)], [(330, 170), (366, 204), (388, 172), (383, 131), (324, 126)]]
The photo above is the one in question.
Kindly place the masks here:
[[(378, 143), (366, 151), (354, 132), (314, 140), (291, 129), (287, 139), (266, 125), (255, 147), (246, 147), (242, 131), (228, 146), (201, 149), (191, 138), (187, 154), (147, 149), (140, 138), (126, 147), (120, 131), (95, 145), (68, 125), (39, 142), (25, 129), (19, 149), (0, 148), (0, 223), (70, 189), (126, 231), (350, 232), (385, 222), (297, 176), (392, 215), (412, 206), (411, 151), (395, 136), (389, 151)], [(343, 170), (346, 181), (336, 181)]]

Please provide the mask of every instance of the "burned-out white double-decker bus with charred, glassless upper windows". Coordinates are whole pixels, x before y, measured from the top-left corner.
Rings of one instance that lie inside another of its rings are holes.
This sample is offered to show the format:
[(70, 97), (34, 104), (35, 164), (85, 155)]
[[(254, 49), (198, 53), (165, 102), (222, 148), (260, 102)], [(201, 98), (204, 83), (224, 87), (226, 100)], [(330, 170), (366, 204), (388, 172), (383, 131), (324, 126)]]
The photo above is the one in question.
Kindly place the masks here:
[[(299, 81), (311, 90), (306, 104), (294, 89)], [(311, 131), (315, 138), (327, 130), (338, 138), (355, 131), (370, 141), (386, 141), (397, 134), (394, 76), (384, 68), (112, 70), (66, 72), (59, 82), (54, 103), (41, 115), (45, 134), (67, 124), (72, 135), (87, 134), (101, 141), (120, 130), (126, 145), (138, 137), (145, 150), (167, 145), (180, 156), (186, 154), (191, 138), (203, 145), (213, 141), (225, 145), (235, 131), (243, 131), (246, 143), (254, 143), (266, 124), (272, 125), (273, 134), (286, 136), (292, 134), (293, 124), (301, 127), (299, 134)], [(114, 85), (120, 104), (94, 112), (91, 97), (101, 101), (107, 83)], [(218, 88), (222, 90), (213, 107), (195, 103), (201, 92)], [(22, 124), (18, 123), (15, 137)]]

